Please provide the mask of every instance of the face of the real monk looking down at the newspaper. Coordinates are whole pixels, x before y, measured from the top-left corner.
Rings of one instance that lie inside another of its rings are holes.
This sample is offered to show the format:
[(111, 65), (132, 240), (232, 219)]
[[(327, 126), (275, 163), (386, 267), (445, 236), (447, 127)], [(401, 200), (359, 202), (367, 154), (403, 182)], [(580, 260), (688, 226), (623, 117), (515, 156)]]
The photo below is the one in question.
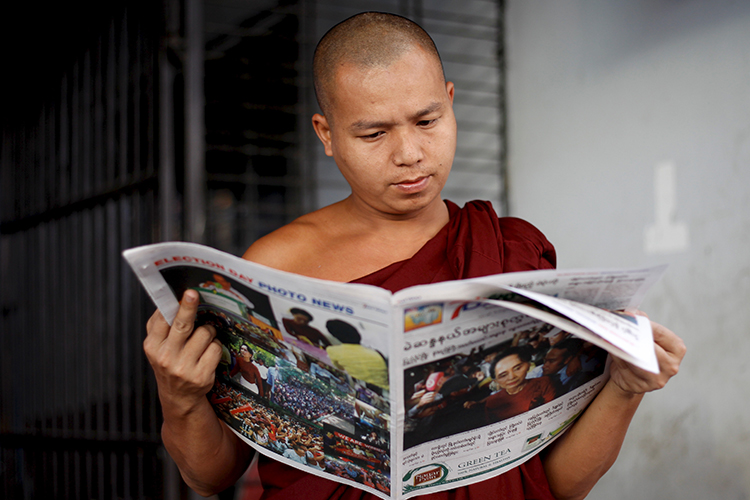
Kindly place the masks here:
[(414, 47), (387, 68), (344, 63), (327, 116), (313, 125), (328, 156), (369, 211), (405, 215), (442, 203), (456, 150), (453, 84)]

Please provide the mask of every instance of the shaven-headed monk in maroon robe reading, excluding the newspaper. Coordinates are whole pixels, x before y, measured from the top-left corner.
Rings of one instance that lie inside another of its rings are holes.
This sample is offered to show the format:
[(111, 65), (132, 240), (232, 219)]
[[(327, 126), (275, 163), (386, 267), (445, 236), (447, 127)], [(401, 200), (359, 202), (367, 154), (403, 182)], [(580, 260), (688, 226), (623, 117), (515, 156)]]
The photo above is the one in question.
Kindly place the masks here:
[[(258, 240), (246, 259), (391, 290), (554, 266), (553, 247), (530, 224), (498, 219), (486, 202), (459, 208), (441, 198), (456, 149), (454, 87), (424, 30), (399, 16), (359, 14), (324, 36), (313, 71), (322, 113), (312, 124), (351, 194)], [(164, 445), (188, 485), (208, 495), (232, 485), (252, 452), (205, 397), (221, 346), (210, 325), (193, 330), (197, 303), (188, 290), (171, 328), (154, 313), (144, 350), (159, 387)], [(684, 344), (661, 325), (653, 329), (658, 375), (614, 360), (588, 410), (543, 456), (428, 497), (585, 497), (614, 463), (644, 393), (678, 371)], [(259, 472), (264, 498), (375, 498), (270, 460)]]

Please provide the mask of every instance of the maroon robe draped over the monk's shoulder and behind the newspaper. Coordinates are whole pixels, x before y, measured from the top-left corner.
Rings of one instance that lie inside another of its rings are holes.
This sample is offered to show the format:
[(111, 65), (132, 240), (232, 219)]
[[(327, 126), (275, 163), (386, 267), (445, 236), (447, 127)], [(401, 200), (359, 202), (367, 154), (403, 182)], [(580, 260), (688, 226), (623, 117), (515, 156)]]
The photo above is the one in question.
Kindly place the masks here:
[[(354, 280), (392, 292), (414, 285), (476, 278), (489, 274), (555, 267), (555, 249), (534, 226), (520, 219), (498, 219), (492, 205), (473, 201), (463, 208), (446, 201), (450, 221), (412, 258)], [(258, 469), (263, 499), (377, 500), (358, 488), (323, 479), (264, 455)], [(423, 495), (429, 500), (554, 500), (539, 455), (505, 474), (450, 491)]]

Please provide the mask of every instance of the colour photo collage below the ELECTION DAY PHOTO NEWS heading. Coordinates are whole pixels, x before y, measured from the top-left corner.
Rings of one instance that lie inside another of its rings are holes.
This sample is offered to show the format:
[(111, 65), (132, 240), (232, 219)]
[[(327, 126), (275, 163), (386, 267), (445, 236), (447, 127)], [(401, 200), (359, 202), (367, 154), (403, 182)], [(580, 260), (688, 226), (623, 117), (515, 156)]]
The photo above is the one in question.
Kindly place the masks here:
[(223, 355), (209, 399), (227, 424), (278, 459), (390, 493), (387, 361), (356, 326), (220, 272), (161, 274), (176, 297), (198, 291), (197, 323), (218, 332)]

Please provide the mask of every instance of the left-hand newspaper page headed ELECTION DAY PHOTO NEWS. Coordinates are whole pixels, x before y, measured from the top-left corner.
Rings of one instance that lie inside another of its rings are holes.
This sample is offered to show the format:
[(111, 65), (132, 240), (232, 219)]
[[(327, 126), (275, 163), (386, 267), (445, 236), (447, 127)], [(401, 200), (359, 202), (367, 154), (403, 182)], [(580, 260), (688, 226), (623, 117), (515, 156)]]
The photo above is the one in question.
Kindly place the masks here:
[(271, 458), (391, 496), (391, 294), (302, 278), (188, 243), (125, 258), (171, 323), (187, 289), (196, 323), (223, 344), (208, 397), (217, 415)]

